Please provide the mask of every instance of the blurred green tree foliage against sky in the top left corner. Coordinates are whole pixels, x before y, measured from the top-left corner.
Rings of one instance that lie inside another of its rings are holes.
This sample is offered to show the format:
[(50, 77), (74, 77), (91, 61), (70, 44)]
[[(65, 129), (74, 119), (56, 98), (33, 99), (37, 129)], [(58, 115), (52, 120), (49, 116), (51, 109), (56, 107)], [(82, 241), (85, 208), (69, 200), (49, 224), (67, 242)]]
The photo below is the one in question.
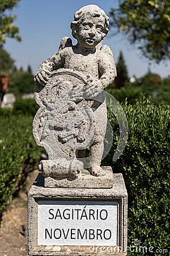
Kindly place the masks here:
[(0, 1), (0, 44), (6, 42), (6, 37), (15, 38), (20, 41), (19, 28), (14, 25), (16, 15), (9, 14), (20, 0), (1, 0)]

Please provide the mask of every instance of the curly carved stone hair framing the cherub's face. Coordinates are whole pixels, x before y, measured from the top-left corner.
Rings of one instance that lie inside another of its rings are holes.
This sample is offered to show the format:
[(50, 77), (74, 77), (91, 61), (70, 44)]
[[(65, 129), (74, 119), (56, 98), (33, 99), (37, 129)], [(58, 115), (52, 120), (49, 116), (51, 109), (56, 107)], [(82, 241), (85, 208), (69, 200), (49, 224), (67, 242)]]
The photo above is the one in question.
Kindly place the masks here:
[(74, 14), (74, 20), (71, 22), (70, 27), (72, 30), (72, 35), (76, 38), (76, 29), (82, 23), (84, 15), (90, 13), (91, 15), (99, 17), (102, 15), (104, 17), (104, 30), (103, 30), (103, 38), (108, 34), (108, 25), (109, 25), (109, 17), (105, 14), (105, 12), (100, 9), (97, 5), (87, 5), (82, 7), (80, 10), (76, 11)]

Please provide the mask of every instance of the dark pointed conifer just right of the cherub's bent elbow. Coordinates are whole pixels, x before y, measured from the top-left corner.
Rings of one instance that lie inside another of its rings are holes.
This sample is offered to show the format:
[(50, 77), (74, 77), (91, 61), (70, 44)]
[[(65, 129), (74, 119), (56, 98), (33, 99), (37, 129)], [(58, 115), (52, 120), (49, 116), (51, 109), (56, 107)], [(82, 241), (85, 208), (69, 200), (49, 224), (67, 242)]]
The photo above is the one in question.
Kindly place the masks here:
[(114, 88), (118, 89), (123, 87), (125, 85), (125, 81), (128, 80), (128, 70), (126, 68), (124, 56), (121, 51), (118, 56), (116, 69), (117, 69), (117, 77), (115, 77), (115, 80), (114, 80)]

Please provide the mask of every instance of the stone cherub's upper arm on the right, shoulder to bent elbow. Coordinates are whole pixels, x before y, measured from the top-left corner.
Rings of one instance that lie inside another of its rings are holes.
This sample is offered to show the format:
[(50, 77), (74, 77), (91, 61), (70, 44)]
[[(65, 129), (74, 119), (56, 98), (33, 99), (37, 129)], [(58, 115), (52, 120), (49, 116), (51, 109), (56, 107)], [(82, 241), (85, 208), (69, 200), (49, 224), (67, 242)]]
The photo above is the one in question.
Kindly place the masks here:
[(108, 46), (103, 46), (100, 49), (99, 56), (99, 72), (100, 82), (103, 89), (114, 81), (116, 77), (116, 66), (114, 64), (113, 53)]

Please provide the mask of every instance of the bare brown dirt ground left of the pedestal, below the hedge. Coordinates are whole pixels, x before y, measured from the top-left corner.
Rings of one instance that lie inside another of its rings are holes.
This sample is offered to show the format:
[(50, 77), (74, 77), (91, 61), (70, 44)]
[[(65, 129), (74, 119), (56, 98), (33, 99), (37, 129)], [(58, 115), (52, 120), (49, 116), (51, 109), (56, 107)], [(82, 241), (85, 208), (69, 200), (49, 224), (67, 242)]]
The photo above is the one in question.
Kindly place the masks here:
[[(27, 256), (27, 193), (38, 171), (28, 174), (23, 190), (3, 213), (0, 229), (1, 256)], [(25, 228), (25, 231), (24, 231)]]

